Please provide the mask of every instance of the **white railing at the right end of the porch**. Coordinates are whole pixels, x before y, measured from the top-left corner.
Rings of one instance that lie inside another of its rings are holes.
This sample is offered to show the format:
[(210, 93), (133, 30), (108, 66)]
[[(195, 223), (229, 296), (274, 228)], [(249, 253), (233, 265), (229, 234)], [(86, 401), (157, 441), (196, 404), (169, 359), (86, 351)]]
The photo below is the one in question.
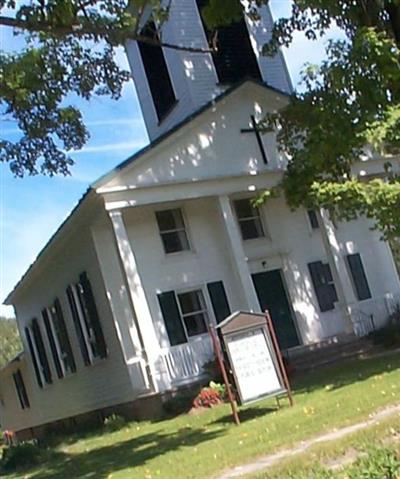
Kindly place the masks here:
[(393, 293), (350, 304), (354, 333), (362, 337), (382, 328), (399, 304), (400, 294)]

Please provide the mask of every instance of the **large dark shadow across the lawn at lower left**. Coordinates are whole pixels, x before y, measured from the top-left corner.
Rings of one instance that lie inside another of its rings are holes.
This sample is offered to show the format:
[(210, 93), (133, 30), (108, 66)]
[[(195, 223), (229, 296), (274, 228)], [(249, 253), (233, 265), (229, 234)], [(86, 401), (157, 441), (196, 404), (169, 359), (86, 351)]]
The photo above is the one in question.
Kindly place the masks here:
[(106, 479), (112, 473), (143, 466), (157, 456), (196, 446), (220, 434), (221, 431), (199, 428), (183, 429), (172, 434), (157, 431), (81, 453), (57, 451), (33, 473), (22, 469), (18, 473), (29, 472), (32, 479)]

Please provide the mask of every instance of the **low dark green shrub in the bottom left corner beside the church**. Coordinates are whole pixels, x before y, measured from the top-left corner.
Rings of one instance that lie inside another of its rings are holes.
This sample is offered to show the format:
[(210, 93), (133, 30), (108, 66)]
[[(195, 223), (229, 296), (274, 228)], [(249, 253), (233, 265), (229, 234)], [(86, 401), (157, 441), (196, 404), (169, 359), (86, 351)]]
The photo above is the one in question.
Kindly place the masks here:
[(21, 442), (15, 446), (6, 446), (0, 460), (0, 471), (11, 472), (17, 468), (32, 467), (40, 464), (46, 451), (36, 441)]

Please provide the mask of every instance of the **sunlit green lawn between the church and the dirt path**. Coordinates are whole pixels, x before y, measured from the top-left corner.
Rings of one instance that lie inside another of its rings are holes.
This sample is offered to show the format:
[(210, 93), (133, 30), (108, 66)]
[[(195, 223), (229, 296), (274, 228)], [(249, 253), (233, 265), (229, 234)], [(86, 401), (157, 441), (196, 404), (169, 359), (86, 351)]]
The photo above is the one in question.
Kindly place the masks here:
[(7, 477), (216, 477), (225, 468), (399, 403), (400, 355), (341, 363), (309, 373), (293, 386), (293, 408), (276, 411), (273, 400), (256, 403), (241, 409), (239, 427), (231, 422), (229, 406), (223, 405), (197, 415), (130, 423), (114, 433), (69, 436), (40, 467)]

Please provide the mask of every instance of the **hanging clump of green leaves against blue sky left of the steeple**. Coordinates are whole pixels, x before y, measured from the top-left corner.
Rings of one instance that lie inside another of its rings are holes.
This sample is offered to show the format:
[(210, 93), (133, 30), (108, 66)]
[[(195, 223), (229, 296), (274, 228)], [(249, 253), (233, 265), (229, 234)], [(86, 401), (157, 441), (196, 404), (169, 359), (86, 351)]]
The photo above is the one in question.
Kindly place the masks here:
[(21, 130), (18, 141), (0, 141), (0, 161), (16, 176), (68, 174), (73, 164), (68, 152), (89, 137), (80, 111), (66, 105), (68, 95), (118, 98), (129, 78), (110, 46), (96, 51), (73, 37), (43, 37), (39, 44), (0, 58), (1, 106)]

